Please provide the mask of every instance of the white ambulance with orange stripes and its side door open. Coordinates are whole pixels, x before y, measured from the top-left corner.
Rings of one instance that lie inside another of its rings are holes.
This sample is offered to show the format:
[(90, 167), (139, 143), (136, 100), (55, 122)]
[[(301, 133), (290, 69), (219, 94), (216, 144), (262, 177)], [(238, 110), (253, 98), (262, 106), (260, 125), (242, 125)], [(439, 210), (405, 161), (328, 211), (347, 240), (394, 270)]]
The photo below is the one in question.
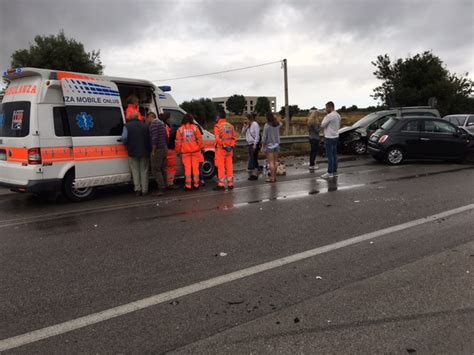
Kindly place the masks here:
[[(121, 140), (127, 98), (140, 111), (171, 115), (176, 130), (186, 113), (169, 87), (152, 82), (59, 70), (17, 68), (0, 103), (0, 186), (36, 194), (62, 191), (71, 201), (91, 199), (99, 186), (131, 182)], [(202, 129), (202, 127), (201, 127)], [(203, 130), (210, 178), (214, 135)], [(178, 161), (177, 176), (183, 167)]]

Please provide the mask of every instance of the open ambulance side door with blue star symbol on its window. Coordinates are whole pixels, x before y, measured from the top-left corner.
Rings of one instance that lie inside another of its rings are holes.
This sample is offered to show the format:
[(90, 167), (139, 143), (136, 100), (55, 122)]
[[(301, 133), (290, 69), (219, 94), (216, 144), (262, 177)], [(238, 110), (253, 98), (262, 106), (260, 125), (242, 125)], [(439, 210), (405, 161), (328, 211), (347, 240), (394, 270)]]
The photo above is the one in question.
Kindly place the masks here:
[(130, 180), (121, 141), (124, 115), (117, 85), (110, 81), (62, 79), (71, 130), (77, 188)]

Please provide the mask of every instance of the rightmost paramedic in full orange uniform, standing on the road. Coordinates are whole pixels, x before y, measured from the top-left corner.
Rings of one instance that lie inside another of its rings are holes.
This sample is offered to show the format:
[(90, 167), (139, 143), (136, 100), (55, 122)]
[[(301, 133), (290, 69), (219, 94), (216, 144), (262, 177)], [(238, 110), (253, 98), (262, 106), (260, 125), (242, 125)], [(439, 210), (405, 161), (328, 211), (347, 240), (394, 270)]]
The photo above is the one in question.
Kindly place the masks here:
[(214, 126), (214, 136), (216, 139), (216, 167), (218, 181), (215, 190), (225, 190), (225, 181), (227, 188), (234, 188), (234, 166), (232, 158), (234, 156), (234, 147), (237, 143), (237, 133), (234, 126), (226, 120), (224, 111), (219, 113), (216, 125)]

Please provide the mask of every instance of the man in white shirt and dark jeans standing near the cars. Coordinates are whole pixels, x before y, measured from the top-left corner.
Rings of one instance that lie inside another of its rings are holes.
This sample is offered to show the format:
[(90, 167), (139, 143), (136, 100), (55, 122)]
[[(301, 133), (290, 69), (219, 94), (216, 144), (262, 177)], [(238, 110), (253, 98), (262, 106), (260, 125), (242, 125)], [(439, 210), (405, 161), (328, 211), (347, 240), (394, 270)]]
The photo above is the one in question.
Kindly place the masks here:
[(321, 127), (324, 129), (324, 146), (328, 158), (328, 172), (321, 177), (330, 179), (337, 176), (337, 143), (339, 140), (339, 128), (341, 127), (341, 116), (334, 109), (334, 102), (326, 104), (327, 115), (324, 117)]

